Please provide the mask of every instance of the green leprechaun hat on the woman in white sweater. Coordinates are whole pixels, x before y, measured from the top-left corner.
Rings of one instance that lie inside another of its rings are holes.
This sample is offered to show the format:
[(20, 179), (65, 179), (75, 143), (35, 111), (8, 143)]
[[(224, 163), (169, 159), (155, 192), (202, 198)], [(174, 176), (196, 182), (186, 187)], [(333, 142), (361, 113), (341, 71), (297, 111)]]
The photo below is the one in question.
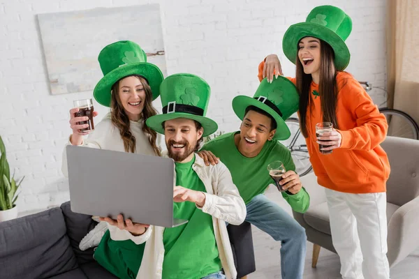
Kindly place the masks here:
[(147, 63), (147, 55), (136, 43), (121, 40), (107, 45), (99, 54), (98, 61), (103, 77), (96, 84), (93, 96), (101, 105), (110, 107), (113, 84), (128, 75), (144, 77), (152, 89), (153, 100), (159, 97), (163, 74), (157, 66)]

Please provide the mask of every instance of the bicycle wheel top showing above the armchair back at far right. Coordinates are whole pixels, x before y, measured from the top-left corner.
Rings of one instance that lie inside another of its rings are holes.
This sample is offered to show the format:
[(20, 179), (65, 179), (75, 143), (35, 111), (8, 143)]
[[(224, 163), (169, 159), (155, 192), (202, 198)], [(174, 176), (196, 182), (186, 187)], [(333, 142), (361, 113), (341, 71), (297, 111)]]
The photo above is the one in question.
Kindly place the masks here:
[(418, 124), (406, 112), (392, 110), (387, 107), (379, 109), (385, 115), (388, 123), (387, 135), (392, 137), (406, 137), (408, 139), (419, 140)]

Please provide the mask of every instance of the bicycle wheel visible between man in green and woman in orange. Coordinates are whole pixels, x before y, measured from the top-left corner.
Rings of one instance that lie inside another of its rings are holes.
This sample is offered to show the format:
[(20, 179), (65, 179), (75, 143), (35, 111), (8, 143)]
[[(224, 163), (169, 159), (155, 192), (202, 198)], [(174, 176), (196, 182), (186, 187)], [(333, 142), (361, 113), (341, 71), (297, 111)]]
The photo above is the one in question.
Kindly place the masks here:
[(304, 176), (311, 172), (311, 163), (309, 159), (309, 151), (304, 136), (300, 131), (300, 122), (296, 118), (289, 118), (286, 121), (291, 131), (291, 137), (288, 140), (281, 140), (290, 151), (295, 164), (295, 172), (300, 176)]

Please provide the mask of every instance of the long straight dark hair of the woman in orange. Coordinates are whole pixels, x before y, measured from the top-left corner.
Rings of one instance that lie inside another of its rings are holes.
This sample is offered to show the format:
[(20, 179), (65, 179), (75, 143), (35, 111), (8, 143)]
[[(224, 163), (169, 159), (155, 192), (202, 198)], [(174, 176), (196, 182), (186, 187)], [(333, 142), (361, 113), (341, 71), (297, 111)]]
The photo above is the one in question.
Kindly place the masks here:
[[(298, 46), (297, 46), (298, 47)], [(334, 128), (339, 128), (336, 117), (337, 104), (337, 84), (335, 68), (335, 52), (332, 47), (323, 40), (320, 40), (320, 81), (318, 91), (321, 98), (321, 112), (323, 113), (323, 121), (331, 122)], [(311, 75), (304, 73), (300, 58), (297, 52), (297, 63), (295, 77), (297, 80), (297, 89), (300, 92), (300, 128), (302, 135), (308, 137), (307, 129), (307, 111), (311, 114), (311, 96), (310, 85)]]

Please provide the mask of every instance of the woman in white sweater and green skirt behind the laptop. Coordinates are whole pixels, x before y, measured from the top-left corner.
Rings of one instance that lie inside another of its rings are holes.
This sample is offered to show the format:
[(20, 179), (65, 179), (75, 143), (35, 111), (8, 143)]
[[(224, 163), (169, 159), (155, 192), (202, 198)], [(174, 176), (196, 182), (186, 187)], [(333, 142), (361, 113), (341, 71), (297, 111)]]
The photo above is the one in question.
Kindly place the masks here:
[[(89, 133), (87, 139), (83, 139), (88, 133), (80, 132), (83, 127), (79, 122), (84, 119), (75, 117), (78, 109), (70, 110), (73, 134), (70, 135), (68, 144), (160, 156), (160, 149), (156, 144), (157, 134), (145, 121), (157, 114), (152, 101), (159, 96), (159, 86), (163, 81), (161, 71), (153, 64), (147, 63), (145, 52), (131, 41), (120, 41), (104, 47), (98, 61), (104, 76), (96, 84), (94, 98), (101, 105), (110, 107), (110, 113), (95, 125), (95, 130)], [(97, 112), (94, 113), (94, 116), (96, 115)], [(62, 162), (62, 171), (67, 175), (65, 151)], [(130, 220), (125, 222), (126, 225), (132, 225)], [(112, 248), (118, 246), (121, 241), (110, 239), (107, 231), (108, 227), (103, 223), (96, 226), (82, 239), (80, 249), (85, 250), (102, 243), (94, 254), (99, 264), (119, 278), (126, 278), (127, 273), (136, 273), (136, 263), (133, 266), (131, 262), (118, 262), (115, 256), (118, 252)], [(131, 244), (129, 250), (135, 254), (133, 258), (136, 259), (142, 255), (144, 246)]]

